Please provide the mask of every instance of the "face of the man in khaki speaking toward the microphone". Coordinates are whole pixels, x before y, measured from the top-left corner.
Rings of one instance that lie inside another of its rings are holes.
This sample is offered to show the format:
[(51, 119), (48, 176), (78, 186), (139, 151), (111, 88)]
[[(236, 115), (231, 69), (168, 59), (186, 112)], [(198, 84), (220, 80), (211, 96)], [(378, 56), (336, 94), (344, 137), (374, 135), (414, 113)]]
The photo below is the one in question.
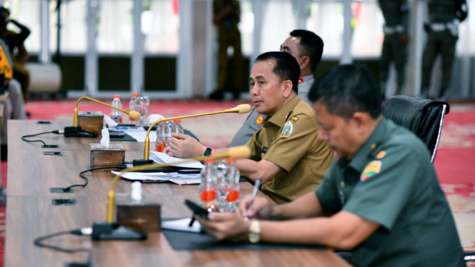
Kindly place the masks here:
[(275, 60), (259, 61), (251, 70), (251, 98), (259, 114), (272, 116), (284, 105), (284, 82), (272, 72), (275, 65)]

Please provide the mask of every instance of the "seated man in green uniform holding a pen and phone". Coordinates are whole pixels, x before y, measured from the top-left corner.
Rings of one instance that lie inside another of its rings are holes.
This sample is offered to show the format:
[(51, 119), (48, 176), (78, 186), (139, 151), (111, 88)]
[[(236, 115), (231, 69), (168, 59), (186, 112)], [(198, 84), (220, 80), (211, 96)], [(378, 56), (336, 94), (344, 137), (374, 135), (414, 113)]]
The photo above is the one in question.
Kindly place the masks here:
[(465, 266), (429, 151), (382, 117), (381, 90), (369, 71), (336, 66), (309, 99), (320, 138), (337, 153), (323, 183), (283, 205), (246, 196), (235, 213), (199, 217), (204, 230), (218, 240), (352, 250), (354, 266)]

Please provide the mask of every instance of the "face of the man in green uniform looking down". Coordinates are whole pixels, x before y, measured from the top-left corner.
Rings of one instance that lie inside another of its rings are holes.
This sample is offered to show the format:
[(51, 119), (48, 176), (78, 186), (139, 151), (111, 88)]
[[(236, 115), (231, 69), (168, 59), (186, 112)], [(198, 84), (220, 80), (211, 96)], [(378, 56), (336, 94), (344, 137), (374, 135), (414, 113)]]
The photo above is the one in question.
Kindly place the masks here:
[(325, 104), (314, 103), (315, 120), (320, 125), (319, 138), (325, 141), (340, 158), (353, 158), (361, 146), (358, 129), (353, 119), (329, 114)]

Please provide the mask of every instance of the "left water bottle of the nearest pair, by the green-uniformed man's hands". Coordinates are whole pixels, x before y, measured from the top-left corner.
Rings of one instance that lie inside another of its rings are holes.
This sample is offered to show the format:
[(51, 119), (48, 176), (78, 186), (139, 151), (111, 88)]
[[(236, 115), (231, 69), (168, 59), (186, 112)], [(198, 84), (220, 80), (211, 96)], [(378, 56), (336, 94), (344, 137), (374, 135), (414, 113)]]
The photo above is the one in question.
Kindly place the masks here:
[(201, 169), (201, 183), (199, 184), (199, 201), (207, 211), (217, 211), (216, 204), (216, 177), (214, 172), (214, 159), (204, 160), (204, 168)]

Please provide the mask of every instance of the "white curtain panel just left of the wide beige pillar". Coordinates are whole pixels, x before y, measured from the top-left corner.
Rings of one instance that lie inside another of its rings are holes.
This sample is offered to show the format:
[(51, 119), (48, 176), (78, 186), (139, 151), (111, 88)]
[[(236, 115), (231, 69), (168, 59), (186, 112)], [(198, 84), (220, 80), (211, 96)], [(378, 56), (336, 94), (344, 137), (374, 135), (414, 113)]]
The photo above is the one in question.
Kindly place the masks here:
[(142, 14), (142, 32), (145, 34), (145, 50), (149, 53), (179, 51), (179, 4), (178, 1), (154, 0), (150, 10)]

